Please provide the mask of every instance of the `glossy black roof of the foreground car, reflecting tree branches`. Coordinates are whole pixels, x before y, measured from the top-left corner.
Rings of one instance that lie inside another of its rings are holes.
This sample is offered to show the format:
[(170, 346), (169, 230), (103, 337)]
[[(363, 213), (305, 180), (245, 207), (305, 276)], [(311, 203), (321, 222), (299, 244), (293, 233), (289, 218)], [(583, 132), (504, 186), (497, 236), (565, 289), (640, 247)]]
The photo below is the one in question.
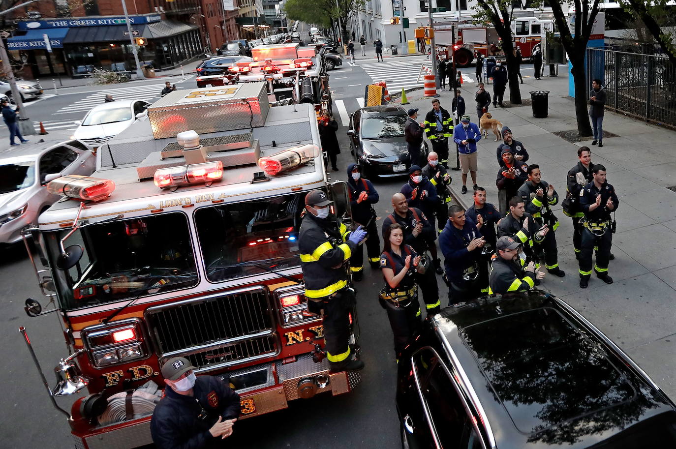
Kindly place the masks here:
[[(642, 421), (676, 423), (661, 390), (547, 293), (477, 300), (443, 310), (433, 323), (498, 448), (625, 447), (617, 435), (650, 427)], [(608, 438), (615, 442), (601, 443)]]

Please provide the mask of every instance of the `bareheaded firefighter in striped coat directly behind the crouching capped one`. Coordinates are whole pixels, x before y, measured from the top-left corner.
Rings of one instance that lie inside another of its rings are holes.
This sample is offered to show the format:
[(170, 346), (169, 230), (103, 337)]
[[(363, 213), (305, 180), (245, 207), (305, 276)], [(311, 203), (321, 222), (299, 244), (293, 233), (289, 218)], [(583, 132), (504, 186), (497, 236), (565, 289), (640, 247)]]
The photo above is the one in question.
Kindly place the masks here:
[(531, 214), (526, 212), (521, 197), (512, 197), (509, 206), (509, 213), (498, 224), (498, 237), (506, 235), (520, 242), (527, 262), (535, 262), (539, 266), (536, 243), (545, 239), (549, 228), (537, 225)]

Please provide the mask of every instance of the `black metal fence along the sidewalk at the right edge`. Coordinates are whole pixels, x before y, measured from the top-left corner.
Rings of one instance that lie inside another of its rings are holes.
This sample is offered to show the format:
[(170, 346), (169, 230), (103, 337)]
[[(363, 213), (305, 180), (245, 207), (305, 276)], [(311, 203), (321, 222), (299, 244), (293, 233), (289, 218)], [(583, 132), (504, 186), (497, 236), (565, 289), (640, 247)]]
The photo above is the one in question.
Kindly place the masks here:
[(587, 48), (587, 85), (594, 78), (602, 81), (610, 110), (676, 128), (676, 68), (651, 50)]

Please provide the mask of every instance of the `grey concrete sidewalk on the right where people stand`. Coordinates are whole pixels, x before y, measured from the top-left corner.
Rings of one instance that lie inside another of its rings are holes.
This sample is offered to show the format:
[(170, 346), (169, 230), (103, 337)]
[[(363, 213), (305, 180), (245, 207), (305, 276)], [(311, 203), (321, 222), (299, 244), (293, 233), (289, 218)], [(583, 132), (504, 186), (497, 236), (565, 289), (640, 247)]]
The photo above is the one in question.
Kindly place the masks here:
[[(473, 69), (466, 69), (473, 70)], [(608, 182), (614, 185), (620, 199), (617, 210), (617, 234), (613, 236), (610, 262), (612, 285), (605, 285), (595, 276), (589, 288), (579, 288), (577, 260), (573, 253), (571, 219), (559, 206), (554, 213), (560, 220), (556, 231), (558, 256), (566, 277), (548, 276), (541, 288), (570, 302), (626, 350), (648, 371), (669, 396), (676, 397), (676, 339), (673, 303), (676, 289), (676, 193), (668, 187), (676, 185), (676, 153), (673, 152), (676, 132), (646, 124), (606, 110), (604, 131), (618, 137), (604, 138), (604, 147), (591, 145), (591, 138), (581, 143), (569, 143), (554, 135), (557, 131), (577, 130), (573, 98), (568, 94), (567, 70), (555, 78), (534, 80), (524, 77), (521, 95), (529, 99), (529, 91), (548, 90), (549, 116), (533, 118), (531, 105), (491, 108), (489, 112), (509, 126), (514, 139), (522, 141), (529, 152), (529, 163), (539, 164), (542, 179), (551, 183), (560, 201), (566, 195), (567, 171), (577, 164), (577, 148), (592, 149), (592, 162), (608, 170)], [(532, 74), (522, 70), (522, 73)], [(473, 73), (468, 72), (474, 77)], [(476, 120), (475, 91), (477, 85), (462, 87), (466, 113)], [(492, 93), (492, 86), (487, 86)], [(508, 97), (509, 89), (505, 96)], [(450, 110), (452, 93), (440, 93), (441, 105)], [(420, 108), (423, 115), (431, 108), (431, 99), (421, 98), (423, 91), (408, 94), (410, 105)], [(506, 98), (507, 100), (507, 98)], [(530, 102), (529, 102), (530, 103)], [(487, 190), (488, 201), (495, 203), (496, 149), (495, 137), (481, 139), (477, 183)], [(454, 148), (454, 145), (451, 145)], [(452, 165), (455, 160), (452, 159)], [(464, 206), (473, 202), (470, 191), (460, 195), (460, 172), (451, 171), (452, 188)], [(672, 187), (673, 188), (673, 187)]]

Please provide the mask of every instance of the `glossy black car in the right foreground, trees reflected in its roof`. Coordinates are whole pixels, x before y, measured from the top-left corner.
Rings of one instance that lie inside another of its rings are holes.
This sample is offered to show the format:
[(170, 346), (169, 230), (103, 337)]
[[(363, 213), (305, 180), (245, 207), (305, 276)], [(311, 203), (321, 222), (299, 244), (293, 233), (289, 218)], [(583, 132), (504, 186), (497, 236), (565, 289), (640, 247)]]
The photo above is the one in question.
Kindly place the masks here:
[(629, 356), (543, 291), (428, 319), (399, 360), (405, 448), (676, 447), (676, 406)]

